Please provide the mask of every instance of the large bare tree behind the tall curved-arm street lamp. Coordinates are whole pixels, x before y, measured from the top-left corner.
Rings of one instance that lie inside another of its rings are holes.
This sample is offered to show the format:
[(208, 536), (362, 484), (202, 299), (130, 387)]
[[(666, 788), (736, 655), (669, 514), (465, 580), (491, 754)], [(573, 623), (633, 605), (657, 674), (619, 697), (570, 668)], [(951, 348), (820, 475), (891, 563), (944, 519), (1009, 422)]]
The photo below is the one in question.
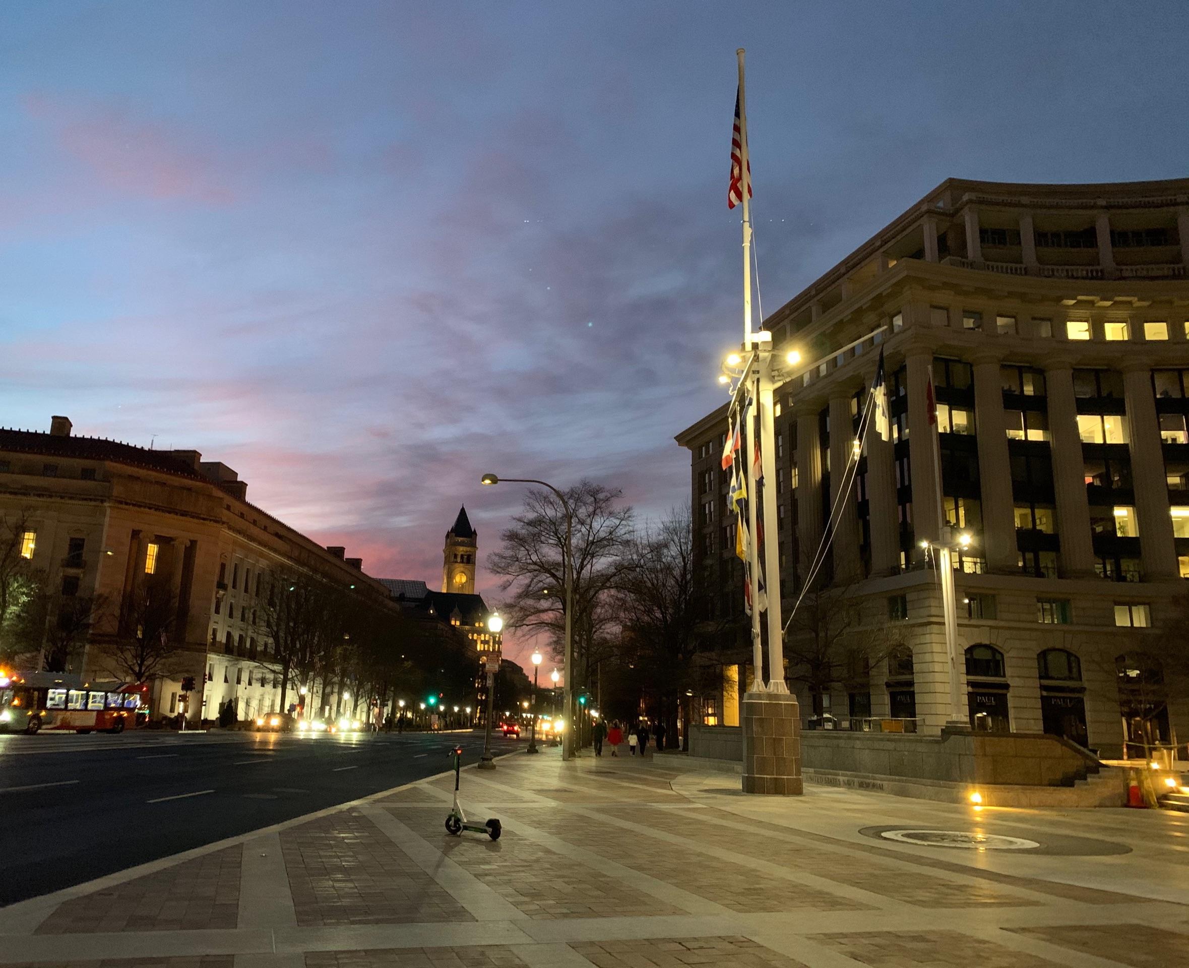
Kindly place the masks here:
[[(589, 680), (599, 647), (610, 637), (614, 615), (600, 609), (618, 586), (630, 562), (624, 551), (633, 534), (634, 513), (618, 503), (622, 492), (591, 480), (567, 490), (573, 514), (573, 610), (572, 629), (577, 675)], [(504, 578), (511, 591), (504, 603), (510, 628), (548, 635), (555, 655), (561, 653), (565, 628), (566, 513), (556, 495), (533, 489), (524, 496), (523, 511), (514, 527), (501, 535), (502, 547), (487, 559), (487, 567)]]

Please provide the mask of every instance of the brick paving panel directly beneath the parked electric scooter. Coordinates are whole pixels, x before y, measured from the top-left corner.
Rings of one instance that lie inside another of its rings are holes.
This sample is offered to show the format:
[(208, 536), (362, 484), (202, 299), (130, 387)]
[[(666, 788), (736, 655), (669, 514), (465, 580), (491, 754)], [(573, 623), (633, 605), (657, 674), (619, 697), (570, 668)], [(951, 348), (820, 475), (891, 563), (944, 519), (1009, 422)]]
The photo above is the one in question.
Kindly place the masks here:
[[(510, 830), (497, 843), (442, 836), (441, 813), (392, 811), (509, 904), (539, 920), (680, 914), (680, 909), (608, 878)], [(548, 872), (546, 876), (542, 876)]]

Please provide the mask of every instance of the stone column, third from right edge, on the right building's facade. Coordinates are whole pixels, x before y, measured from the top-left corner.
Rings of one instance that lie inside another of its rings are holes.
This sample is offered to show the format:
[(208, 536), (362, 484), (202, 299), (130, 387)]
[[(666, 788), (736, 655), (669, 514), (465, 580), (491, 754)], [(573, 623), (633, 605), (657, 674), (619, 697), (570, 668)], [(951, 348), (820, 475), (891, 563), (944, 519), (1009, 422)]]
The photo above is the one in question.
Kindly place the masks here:
[(982, 552), (987, 570), (1017, 571), (1015, 501), (1012, 496), (1004, 389), (998, 356), (974, 358), (975, 427), (979, 435), (979, 486), (982, 495)]

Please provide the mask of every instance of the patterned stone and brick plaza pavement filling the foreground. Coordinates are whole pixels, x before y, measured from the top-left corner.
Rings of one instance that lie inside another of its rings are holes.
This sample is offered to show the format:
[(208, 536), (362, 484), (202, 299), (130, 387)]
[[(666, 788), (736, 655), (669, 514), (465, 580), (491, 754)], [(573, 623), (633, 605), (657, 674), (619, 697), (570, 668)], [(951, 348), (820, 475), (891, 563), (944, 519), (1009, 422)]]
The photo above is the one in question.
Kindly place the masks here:
[[(443, 755), (445, 760), (445, 755)], [(39, 968), (906, 968), (1189, 960), (1189, 815), (746, 797), (674, 754), (440, 775), (0, 910)], [(19, 817), (8, 817), (19, 823)], [(1006, 835), (980, 850), (883, 829)], [(113, 831), (136, 836), (134, 830)]]

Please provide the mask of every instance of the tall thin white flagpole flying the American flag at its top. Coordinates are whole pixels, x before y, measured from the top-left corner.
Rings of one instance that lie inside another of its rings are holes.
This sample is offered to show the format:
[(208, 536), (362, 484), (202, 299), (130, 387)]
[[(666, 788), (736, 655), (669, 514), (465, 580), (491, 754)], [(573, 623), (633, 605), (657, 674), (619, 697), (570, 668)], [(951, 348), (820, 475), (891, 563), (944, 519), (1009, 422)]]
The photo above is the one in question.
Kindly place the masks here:
[(748, 394), (751, 396), (751, 407), (747, 408), (744, 396), (744, 411), (747, 422), (743, 427), (743, 466), (747, 474), (747, 517), (750, 540), (748, 541), (747, 565), (750, 572), (751, 591), (751, 667), (754, 670), (751, 691), (763, 690), (763, 645), (760, 640), (760, 533), (756, 528), (756, 505), (759, 495), (756, 494), (755, 461), (753, 451), (759, 441), (760, 432), (760, 358), (759, 347), (751, 337), (751, 178), (748, 172), (748, 147), (747, 147), (747, 90), (743, 84), (743, 48), (735, 51), (740, 64), (740, 200), (743, 203), (743, 353), (747, 360), (747, 372), (743, 379), (751, 384)]

